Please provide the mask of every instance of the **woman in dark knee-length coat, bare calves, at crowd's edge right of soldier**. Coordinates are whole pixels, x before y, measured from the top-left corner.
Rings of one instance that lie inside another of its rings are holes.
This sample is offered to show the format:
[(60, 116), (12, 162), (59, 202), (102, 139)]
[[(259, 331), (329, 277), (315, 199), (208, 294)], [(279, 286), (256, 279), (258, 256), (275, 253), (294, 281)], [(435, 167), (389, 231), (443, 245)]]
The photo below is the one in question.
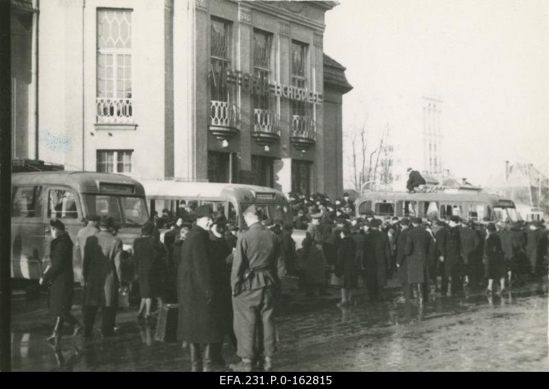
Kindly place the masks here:
[(338, 259), (334, 272), (336, 276), (343, 277), (341, 285), (340, 307), (347, 306), (351, 302), (351, 290), (358, 287), (358, 263), (356, 261), (356, 243), (351, 237), (349, 227), (345, 226), (340, 231), (340, 244), (338, 246)]

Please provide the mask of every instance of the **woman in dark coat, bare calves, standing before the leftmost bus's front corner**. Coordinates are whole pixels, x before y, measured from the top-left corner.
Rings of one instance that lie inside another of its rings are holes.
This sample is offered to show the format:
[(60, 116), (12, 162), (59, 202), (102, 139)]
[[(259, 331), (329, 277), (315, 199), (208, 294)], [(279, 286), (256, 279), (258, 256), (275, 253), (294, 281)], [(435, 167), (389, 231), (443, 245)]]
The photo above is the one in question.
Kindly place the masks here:
[(141, 305), (137, 317), (150, 320), (152, 298), (158, 298), (159, 305), (162, 304), (163, 254), (165, 250), (162, 244), (154, 239), (154, 224), (152, 222), (146, 222), (141, 233), (143, 236), (135, 239), (133, 244), (139, 294), (141, 294)]

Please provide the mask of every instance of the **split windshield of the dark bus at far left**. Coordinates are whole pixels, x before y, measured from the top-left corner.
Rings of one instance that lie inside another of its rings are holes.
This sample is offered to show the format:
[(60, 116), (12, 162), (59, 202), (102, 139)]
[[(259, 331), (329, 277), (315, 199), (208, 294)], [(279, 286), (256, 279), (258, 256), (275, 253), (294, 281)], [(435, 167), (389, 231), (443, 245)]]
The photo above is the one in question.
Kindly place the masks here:
[(145, 199), (110, 195), (84, 195), (88, 213), (113, 217), (117, 224), (143, 226), (148, 221)]

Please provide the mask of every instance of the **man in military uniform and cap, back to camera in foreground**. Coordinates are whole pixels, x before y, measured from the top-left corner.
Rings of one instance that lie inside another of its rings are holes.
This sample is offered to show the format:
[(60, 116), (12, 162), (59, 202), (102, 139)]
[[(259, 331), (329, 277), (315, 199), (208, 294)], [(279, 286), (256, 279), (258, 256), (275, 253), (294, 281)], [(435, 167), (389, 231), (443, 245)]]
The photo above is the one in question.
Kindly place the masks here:
[(279, 239), (261, 224), (262, 216), (255, 205), (244, 211), (249, 229), (238, 238), (233, 261), (234, 330), (237, 355), (242, 358), (242, 362), (229, 365), (233, 371), (251, 371), (261, 351), (264, 370), (271, 370), (276, 349), (272, 311), (285, 268)]

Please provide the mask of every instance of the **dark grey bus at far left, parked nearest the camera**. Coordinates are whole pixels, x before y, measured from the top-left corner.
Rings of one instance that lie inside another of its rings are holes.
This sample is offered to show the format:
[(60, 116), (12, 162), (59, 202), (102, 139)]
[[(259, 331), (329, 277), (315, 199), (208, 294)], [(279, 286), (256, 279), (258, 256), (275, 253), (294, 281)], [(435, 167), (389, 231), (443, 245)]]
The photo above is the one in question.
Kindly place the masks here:
[[(60, 219), (74, 245), (75, 282), (82, 281), (76, 235), (86, 215), (113, 217), (124, 244), (123, 270), (130, 271), (131, 247), (148, 220), (143, 186), (121, 174), (32, 172), (12, 174), (12, 278), (38, 280), (49, 260), (49, 220)], [(123, 274), (124, 276), (124, 274)]]

